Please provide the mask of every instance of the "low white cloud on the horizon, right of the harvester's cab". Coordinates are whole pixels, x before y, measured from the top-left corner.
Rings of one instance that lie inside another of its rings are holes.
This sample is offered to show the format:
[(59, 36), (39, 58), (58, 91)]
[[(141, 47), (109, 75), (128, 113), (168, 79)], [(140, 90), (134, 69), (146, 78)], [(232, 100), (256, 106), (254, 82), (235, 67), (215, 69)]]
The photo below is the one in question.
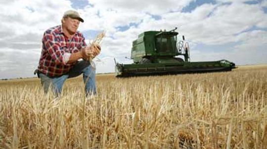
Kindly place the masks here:
[(198, 49), (191, 51), (191, 58), (194, 61), (227, 59), (238, 65), (267, 63), (267, 31), (244, 32), (236, 38), (240, 43), (228, 50), (218, 51), (214, 49), (214, 51), (203, 53), (202, 51), (205, 49)]

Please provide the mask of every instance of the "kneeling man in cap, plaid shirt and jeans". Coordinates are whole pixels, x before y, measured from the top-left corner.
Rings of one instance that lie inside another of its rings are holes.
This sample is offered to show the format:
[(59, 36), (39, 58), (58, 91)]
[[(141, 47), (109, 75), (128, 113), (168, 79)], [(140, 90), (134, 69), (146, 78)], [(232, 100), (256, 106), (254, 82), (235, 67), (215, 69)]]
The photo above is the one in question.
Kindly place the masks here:
[(51, 87), (59, 95), (66, 79), (83, 74), (86, 94), (96, 94), (95, 68), (87, 60), (100, 53), (100, 46), (87, 46), (85, 37), (77, 31), (80, 22), (84, 20), (79, 13), (68, 10), (63, 15), (61, 25), (44, 33), (37, 73), (45, 93)]

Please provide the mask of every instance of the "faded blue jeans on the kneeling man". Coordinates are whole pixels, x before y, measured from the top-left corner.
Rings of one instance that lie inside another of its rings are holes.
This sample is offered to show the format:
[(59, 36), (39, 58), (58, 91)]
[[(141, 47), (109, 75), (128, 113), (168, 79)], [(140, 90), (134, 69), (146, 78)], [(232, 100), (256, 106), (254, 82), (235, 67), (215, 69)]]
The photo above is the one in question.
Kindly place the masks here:
[(82, 73), (85, 83), (86, 95), (96, 94), (95, 68), (92, 68), (89, 61), (78, 61), (67, 74), (59, 77), (48, 77), (43, 73), (40, 73), (39, 76), (41, 78), (41, 84), (45, 89), (45, 93), (47, 93), (49, 87), (51, 87), (55, 95), (58, 96), (62, 91), (64, 82), (68, 78), (77, 77)]

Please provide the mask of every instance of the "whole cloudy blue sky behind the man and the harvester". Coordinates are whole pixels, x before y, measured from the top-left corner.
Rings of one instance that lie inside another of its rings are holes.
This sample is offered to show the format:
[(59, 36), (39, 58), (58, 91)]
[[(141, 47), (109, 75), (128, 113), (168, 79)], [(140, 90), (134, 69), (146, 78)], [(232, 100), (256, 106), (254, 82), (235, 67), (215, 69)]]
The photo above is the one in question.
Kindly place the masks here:
[(33, 77), (44, 31), (77, 10), (89, 43), (105, 30), (97, 73), (114, 72), (114, 58), (132, 63), (132, 41), (147, 30), (172, 30), (189, 42), (192, 61), (267, 63), (267, 0), (1, 0), (0, 79)]

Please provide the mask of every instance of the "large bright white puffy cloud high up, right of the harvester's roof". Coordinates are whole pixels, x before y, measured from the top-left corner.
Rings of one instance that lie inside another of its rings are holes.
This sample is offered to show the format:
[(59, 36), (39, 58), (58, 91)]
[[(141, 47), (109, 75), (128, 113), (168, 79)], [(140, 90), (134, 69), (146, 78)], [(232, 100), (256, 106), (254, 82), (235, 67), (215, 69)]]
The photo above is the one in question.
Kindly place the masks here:
[(265, 16), (266, 14), (255, 5), (243, 3), (222, 5), (218, 6), (209, 18), (191, 23), (189, 30), (201, 30), (200, 33), (192, 32), (198, 42), (224, 44), (236, 41), (235, 34), (252, 28)]

